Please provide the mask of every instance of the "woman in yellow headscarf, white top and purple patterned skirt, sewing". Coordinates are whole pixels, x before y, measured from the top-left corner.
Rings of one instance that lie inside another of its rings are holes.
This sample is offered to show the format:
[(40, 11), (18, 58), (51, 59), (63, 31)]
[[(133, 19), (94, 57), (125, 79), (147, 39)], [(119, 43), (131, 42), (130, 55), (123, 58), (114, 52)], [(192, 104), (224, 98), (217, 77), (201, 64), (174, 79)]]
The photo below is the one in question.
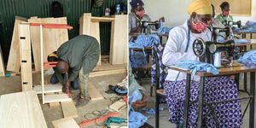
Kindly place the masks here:
[[(198, 61), (192, 49), (195, 38), (202, 38), (205, 41), (211, 40), (212, 32), (208, 29), (208, 26), (212, 24), (211, 3), (208, 3), (207, 0), (195, 0), (190, 3), (188, 13), (190, 15), (189, 20), (186, 20), (181, 26), (174, 27), (169, 33), (162, 57), (163, 64), (166, 66), (183, 60)], [(195, 103), (189, 105), (189, 128), (196, 127), (199, 79), (196, 75), (191, 78), (189, 100)], [(185, 85), (186, 73), (168, 70), (164, 92), (170, 112), (169, 120), (180, 125), (183, 124)], [(204, 91), (204, 102), (220, 102), (238, 98), (236, 83), (227, 76), (207, 78)], [(241, 105), (238, 101), (212, 104), (212, 108), (217, 115), (220, 128), (238, 128), (242, 124)], [(205, 106), (204, 115), (209, 111), (209, 108)], [(203, 124), (208, 128), (216, 127), (211, 114), (203, 118)]]

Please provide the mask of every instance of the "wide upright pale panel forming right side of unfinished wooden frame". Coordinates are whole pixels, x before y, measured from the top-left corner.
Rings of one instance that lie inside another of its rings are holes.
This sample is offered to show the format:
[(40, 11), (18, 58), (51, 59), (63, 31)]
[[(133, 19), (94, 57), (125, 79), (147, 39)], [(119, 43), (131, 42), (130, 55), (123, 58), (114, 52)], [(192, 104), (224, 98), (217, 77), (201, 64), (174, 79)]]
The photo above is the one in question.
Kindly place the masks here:
[(111, 64), (123, 64), (127, 61), (127, 15), (115, 15), (111, 26), (109, 61)]

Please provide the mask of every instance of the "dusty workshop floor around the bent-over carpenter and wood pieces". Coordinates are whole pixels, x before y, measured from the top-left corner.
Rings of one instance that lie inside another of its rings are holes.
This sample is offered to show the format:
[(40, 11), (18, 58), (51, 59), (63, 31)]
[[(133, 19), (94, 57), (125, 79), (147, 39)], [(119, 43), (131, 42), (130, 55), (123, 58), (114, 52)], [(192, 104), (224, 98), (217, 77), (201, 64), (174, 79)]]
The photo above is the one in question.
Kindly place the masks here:
[[(50, 76), (45, 76), (45, 79), (49, 79)], [(105, 97), (104, 100), (89, 102), (87, 105), (81, 108), (77, 108), (79, 118), (75, 118), (76, 122), (79, 124), (82, 120), (84, 120), (84, 115), (87, 113), (91, 113), (93, 111), (102, 111), (107, 110), (108, 106), (111, 105), (113, 102), (109, 100), (110, 97), (118, 97), (115, 94), (106, 94), (105, 90), (108, 90), (108, 84), (118, 84), (122, 81), (122, 79), (125, 78), (125, 74), (115, 74), (115, 75), (108, 75), (108, 76), (102, 76), (102, 77), (96, 77), (91, 78), (90, 81), (92, 84), (96, 86), (96, 89), (99, 90), (102, 94), (102, 96)], [(33, 74), (33, 84), (39, 84), (41, 81), (40, 74)], [(20, 76), (12, 76), (10, 78), (0, 78), (0, 95), (3, 94), (9, 94), (14, 92), (21, 91), (21, 82), (20, 82)], [(72, 90), (73, 96), (78, 95), (78, 90)], [(38, 96), (39, 101), (41, 102), (41, 96)], [(42, 102), (41, 102), (42, 103)], [(48, 104), (41, 104), (41, 107), (43, 108), (44, 112), (44, 118), (46, 120), (46, 123), (48, 125), (48, 128), (54, 128), (52, 125), (52, 121), (56, 119), (62, 119), (63, 113), (61, 106), (56, 108), (49, 108)], [(127, 108), (123, 109), (119, 113), (119, 117), (127, 119)], [(88, 118), (96, 118), (95, 116), (90, 116)], [(104, 128), (105, 126), (102, 125), (104, 122), (97, 122), (96, 124), (86, 125), (82, 128)], [(126, 125), (126, 124), (122, 124)]]

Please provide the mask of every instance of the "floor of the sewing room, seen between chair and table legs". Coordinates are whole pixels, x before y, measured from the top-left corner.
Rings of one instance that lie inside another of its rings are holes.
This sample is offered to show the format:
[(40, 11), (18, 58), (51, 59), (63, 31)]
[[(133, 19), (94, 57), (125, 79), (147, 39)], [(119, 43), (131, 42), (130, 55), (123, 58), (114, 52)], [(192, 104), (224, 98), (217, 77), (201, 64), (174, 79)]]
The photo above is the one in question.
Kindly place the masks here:
[[(147, 104), (147, 107), (146, 108), (154, 108), (154, 93), (153, 93), (153, 96), (150, 97), (150, 83), (147, 82), (147, 81), (143, 81), (143, 87), (147, 90), (147, 96), (148, 96), (148, 104)], [(242, 83), (240, 83), (242, 84)], [(153, 91), (154, 92), (154, 91)], [(246, 96), (244, 93), (241, 93), (240, 96)], [(242, 113), (244, 111), (244, 109), (246, 108), (246, 105), (247, 105), (247, 101), (248, 100), (244, 100), (244, 101), (241, 101), (241, 110), (242, 110)], [(162, 114), (162, 116), (160, 116), (160, 128), (176, 128), (176, 125), (172, 124), (171, 122), (168, 121), (168, 108), (167, 108), (167, 105), (166, 104), (160, 104), (160, 107), (163, 107), (164, 108), (164, 111), (160, 111), (160, 114)], [(249, 109), (249, 108), (248, 108)], [(249, 111), (247, 109), (247, 112), (245, 114), (245, 117), (243, 119), (243, 125), (241, 125), (241, 128), (248, 128), (248, 123), (249, 123)], [(256, 110), (256, 106), (255, 106), (255, 110)], [(142, 112), (143, 113), (143, 112)], [(155, 124), (155, 116), (154, 115), (148, 115), (147, 113), (143, 113), (145, 116), (148, 117), (148, 124), (150, 125), (153, 125)], [(167, 115), (166, 115), (167, 114)], [(256, 115), (256, 111), (254, 113), (254, 115)], [(255, 117), (256, 118), (256, 117)], [(255, 119), (256, 120), (256, 119)], [(254, 125), (256, 125), (256, 121), (254, 121)]]

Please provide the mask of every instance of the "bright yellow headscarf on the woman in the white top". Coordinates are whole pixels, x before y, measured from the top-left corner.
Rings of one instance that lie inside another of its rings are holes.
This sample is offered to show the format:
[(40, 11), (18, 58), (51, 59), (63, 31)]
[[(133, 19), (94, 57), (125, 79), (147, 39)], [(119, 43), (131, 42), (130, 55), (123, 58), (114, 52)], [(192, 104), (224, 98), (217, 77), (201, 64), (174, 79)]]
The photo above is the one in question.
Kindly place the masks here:
[(212, 15), (212, 5), (207, 0), (194, 0), (189, 4), (188, 13), (198, 15)]

